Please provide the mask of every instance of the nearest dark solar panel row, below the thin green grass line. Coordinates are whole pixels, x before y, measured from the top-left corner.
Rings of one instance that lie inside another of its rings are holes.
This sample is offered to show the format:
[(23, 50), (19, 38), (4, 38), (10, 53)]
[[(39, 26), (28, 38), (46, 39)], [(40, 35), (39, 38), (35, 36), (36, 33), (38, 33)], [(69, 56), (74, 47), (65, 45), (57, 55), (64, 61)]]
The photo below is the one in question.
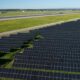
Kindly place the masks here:
[(56, 72), (29, 71), (17, 69), (0, 69), (0, 77), (27, 80), (80, 80), (79, 74), (64, 74)]

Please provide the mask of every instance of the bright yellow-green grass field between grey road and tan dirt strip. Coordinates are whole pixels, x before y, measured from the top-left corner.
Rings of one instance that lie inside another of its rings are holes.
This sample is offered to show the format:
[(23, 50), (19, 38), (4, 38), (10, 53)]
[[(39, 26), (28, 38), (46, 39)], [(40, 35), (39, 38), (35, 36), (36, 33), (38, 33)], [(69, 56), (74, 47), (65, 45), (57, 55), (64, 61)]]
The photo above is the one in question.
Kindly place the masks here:
[(29, 28), (33, 26), (55, 23), (59, 21), (67, 21), (75, 18), (80, 18), (80, 14), (66, 14), (61, 16), (45, 16), (45, 17), (0, 21), (0, 32)]

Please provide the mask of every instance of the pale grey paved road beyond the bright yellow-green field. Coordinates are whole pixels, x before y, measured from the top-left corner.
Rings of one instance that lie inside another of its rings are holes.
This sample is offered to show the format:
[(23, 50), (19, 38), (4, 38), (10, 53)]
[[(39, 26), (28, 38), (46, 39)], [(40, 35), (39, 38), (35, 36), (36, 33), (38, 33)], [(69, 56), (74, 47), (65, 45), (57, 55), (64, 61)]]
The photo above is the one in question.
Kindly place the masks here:
[(0, 21), (4, 20), (13, 20), (13, 19), (23, 19), (23, 18), (33, 18), (33, 17), (43, 17), (43, 16), (60, 16), (60, 15), (65, 15), (65, 14), (54, 14), (54, 15), (34, 15), (34, 16), (11, 16), (11, 17), (0, 17)]

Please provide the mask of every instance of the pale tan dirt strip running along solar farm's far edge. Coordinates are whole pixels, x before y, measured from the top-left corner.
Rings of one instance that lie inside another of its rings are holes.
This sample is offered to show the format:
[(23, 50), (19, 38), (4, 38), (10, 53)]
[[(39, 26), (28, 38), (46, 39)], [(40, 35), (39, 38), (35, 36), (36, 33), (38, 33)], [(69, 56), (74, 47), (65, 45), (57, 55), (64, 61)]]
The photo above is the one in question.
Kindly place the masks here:
[(44, 28), (44, 27), (54, 26), (54, 25), (72, 22), (72, 21), (77, 21), (77, 20), (80, 20), (80, 18), (69, 19), (67, 21), (59, 21), (59, 22), (44, 24), (44, 25), (40, 25), (40, 26), (33, 26), (33, 27), (29, 27), (29, 28), (23, 28), (23, 29), (18, 29), (18, 30), (2, 32), (2, 33), (0, 33), (0, 38), (4, 37), (4, 36), (10, 36), (11, 34), (28, 33), (30, 30), (40, 29), (40, 28)]

